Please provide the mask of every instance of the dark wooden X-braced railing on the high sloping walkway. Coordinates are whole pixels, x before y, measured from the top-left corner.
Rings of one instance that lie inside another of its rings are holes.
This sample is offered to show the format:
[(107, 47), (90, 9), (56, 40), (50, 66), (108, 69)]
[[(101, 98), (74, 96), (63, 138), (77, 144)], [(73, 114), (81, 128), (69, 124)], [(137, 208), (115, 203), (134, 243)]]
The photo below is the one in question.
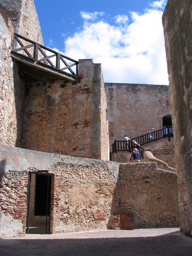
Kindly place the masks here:
[[(36, 64), (48, 66), (59, 70), (60, 72), (67, 71), (73, 76), (78, 76), (77, 60), (73, 60), (59, 52), (55, 52), (54, 50), (17, 33), (14, 33), (13, 35), (12, 52), (21, 54), (31, 60), (35, 60)], [(73, 66), (76, 66), (75, 72), (71, 69)]]

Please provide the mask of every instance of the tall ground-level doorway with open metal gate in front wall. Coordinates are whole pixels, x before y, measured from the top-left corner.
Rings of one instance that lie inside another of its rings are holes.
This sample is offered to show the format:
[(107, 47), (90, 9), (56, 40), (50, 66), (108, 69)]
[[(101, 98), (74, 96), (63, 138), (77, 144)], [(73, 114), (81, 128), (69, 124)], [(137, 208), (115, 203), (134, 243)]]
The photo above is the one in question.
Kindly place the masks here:
[(45, 172), (29, 173), (27, 198), (27, 234), (50, 233), (52, 176)]

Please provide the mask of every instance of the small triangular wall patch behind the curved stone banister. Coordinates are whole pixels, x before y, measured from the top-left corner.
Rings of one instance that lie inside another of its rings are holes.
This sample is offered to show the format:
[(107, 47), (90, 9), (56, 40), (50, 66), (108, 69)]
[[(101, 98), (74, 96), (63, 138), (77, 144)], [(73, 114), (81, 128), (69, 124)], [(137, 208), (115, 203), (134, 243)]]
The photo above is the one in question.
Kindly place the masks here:
[(176, 168), (174, 148), (148, 149), (147, 151), (150, 151), (159, 160), (166, 162), (168, 166)]

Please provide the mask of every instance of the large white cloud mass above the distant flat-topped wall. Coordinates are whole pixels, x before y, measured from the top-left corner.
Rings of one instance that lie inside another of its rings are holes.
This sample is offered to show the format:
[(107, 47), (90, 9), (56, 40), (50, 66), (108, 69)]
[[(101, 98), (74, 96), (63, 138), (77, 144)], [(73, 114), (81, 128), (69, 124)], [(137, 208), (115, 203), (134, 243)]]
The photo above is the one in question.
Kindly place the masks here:
[(124, 26), (86, 19), (65, 41), (64, 54), (101, 63), (105, 82), (168, 84), (162, 14), (131, 12), (132, 23)]

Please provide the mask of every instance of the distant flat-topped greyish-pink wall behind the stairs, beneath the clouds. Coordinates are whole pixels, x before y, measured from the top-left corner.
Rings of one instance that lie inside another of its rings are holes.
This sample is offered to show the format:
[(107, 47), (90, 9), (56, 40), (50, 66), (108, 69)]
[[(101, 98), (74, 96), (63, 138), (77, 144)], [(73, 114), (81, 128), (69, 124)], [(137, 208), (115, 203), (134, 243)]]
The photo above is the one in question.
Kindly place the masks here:
[(151, 127), (163, 128), (163, 116), (171, 114), (166, 85), (105, 83), (105, 90), (110, 151), (115, 140), (124, 140), (124, 134), (131, 139), (150, 132)]

